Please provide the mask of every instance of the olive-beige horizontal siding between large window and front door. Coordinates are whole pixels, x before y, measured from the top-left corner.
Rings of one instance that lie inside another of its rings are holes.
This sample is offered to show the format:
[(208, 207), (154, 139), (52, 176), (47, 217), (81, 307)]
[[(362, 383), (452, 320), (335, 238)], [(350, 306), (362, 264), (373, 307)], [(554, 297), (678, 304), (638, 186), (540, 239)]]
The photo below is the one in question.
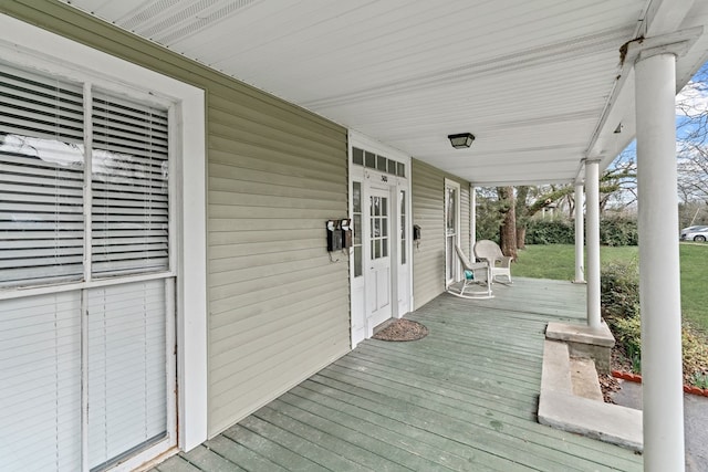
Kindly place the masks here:
[[(344, 129), (233, 88), (209, 94), (209, 434), (350, 348)], [(336, 259), (336, 258), (335, 258)]]

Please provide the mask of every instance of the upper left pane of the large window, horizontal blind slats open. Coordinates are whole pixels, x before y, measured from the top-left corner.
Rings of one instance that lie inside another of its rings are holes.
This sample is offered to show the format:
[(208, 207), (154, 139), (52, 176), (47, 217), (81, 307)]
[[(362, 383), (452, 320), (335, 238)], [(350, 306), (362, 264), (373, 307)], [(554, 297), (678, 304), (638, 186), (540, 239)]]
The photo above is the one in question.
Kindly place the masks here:
[(0, 286), (83, 276), (82, 87), (0, 67)]

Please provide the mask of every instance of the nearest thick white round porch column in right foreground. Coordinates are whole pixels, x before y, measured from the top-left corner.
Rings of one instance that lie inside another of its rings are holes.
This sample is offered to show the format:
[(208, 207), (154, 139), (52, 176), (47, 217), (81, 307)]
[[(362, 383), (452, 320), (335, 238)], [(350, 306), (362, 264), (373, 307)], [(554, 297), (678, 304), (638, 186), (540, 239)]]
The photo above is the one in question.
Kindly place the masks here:
[(648, 52), (635, 65), (644, 470), (684, 471), (676, 57)]

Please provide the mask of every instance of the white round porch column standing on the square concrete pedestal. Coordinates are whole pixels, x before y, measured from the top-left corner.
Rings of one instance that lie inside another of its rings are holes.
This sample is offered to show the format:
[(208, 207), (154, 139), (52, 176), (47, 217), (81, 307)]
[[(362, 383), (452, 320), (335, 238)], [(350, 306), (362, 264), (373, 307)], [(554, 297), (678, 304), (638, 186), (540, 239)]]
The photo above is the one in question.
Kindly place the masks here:
[(587, 326), (600, 328), (600, 160), (585, 160)]

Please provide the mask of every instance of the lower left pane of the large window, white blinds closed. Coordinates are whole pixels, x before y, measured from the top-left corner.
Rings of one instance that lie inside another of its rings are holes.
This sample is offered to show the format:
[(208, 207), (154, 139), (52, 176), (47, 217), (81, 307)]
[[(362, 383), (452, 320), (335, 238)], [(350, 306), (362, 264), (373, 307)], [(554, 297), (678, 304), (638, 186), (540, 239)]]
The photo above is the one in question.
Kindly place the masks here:
[(11, 347), (0, 350), (3, 470), (81, 469), (80, 300), (64, 292), (0, 304), (0, 346)]

